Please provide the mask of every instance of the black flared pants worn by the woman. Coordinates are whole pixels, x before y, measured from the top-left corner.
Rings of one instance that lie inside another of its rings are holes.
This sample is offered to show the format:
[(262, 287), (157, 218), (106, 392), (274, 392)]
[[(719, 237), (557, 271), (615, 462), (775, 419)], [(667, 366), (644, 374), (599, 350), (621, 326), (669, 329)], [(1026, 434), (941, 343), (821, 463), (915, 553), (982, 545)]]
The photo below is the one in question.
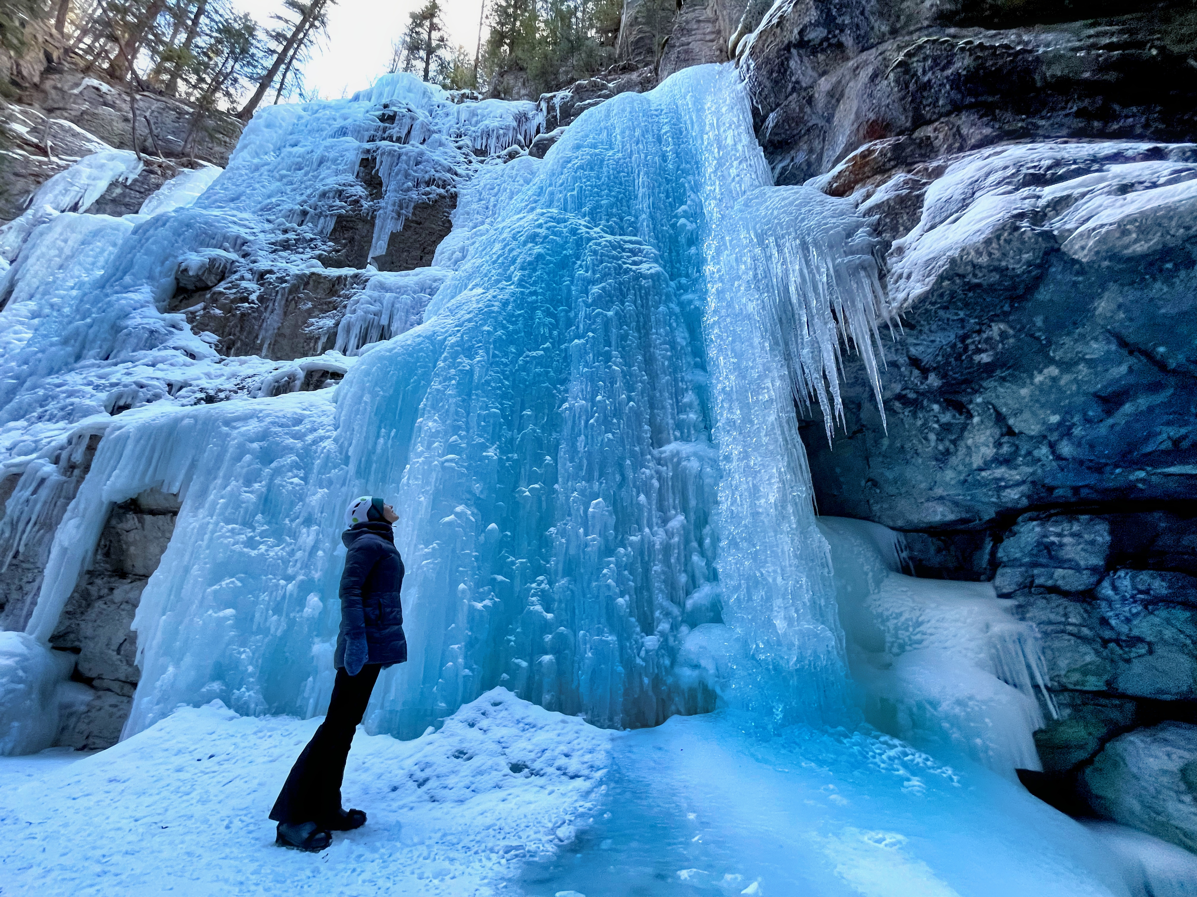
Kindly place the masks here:
[(378, 664), (367, 664), (357, 676), (350, 676), (345, 667), (336, 671), (328, 715), (291, 767), (271, 811), (274, 822), (320, 822), (341, 810), (345, 758), (350, 756), (353, 732), (366, 712), (381, 670)]

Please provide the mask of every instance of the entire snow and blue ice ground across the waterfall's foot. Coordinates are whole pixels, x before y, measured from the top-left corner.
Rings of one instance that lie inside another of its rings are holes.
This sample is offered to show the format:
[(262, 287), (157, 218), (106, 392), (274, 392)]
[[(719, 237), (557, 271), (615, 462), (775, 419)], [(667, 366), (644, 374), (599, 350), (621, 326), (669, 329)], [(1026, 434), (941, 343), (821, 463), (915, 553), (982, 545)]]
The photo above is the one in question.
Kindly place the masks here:
[(0, 764), (5, 893), (1126, 895), (1087, 830), (887, 737), (719, 712), (609, 732), (502, 689), (438, 732), (359, 732), (318, 855), (266, 811), (318, 719), (182, 708), (79, 762)]

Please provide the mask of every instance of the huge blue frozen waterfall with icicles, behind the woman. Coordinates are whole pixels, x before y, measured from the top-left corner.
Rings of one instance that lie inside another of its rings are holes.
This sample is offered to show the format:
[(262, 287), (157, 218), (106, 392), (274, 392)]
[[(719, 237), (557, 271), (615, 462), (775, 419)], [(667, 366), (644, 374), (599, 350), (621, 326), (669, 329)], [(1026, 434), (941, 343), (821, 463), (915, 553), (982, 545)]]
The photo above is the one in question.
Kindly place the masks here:
[[(777, 720), (846, 720), (790, 409), (813, 396), (834, 413), (845, 340), (874, 367), (881, 294), (862, 222), (771, 185), (731, 69), (620, 96), (543, 160), (506, 165), (479, 155), (527, 142), (535, 108), (450, 99), (390, 77), (351, 100), (275, 106), (193, 205), (65, 213), (32, 233), (0, 312), (0, 448), (24, 471), (6, 527), (36, 529), (35, 480), (65, 478), (63, 458), (103, 439), (29, 634), (53, 631), (113, 502), (156, 487), (183, 502), (134, 624), (126, 733), (213, 698), (320, 713), (341, 504), (375, 493), (402, 508), (411, 661), (381, 681), (372, 731), (419, 734), (497, 684), (606, 726), (709, 708), (712, 688)], [(335, 390), (180, 399), (251, 362), (215, 358), (159, 311), (176, 268), (272, 228), (327, 232), (322, 191), (369, 140), (394, 155), (378, 158), (383, 230), (457, 178), (435, 266), (356, 297), (338, 347), (369, 350)], [(111, 416), (133, 384), (140, 399)], [(712, 664), (715, 645), (718, 677), (675, 670), (686, 651)]]

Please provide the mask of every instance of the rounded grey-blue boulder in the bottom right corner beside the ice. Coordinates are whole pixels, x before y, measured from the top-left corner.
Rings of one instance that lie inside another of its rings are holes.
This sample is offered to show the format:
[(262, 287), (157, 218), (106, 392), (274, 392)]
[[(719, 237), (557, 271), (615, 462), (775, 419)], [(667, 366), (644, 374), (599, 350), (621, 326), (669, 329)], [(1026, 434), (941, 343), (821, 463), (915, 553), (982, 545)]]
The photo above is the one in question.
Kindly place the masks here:
[(1083, 779), (1101, 816), (1197, 852), (1197, 726), (1163, 722), (1119, 736)]

